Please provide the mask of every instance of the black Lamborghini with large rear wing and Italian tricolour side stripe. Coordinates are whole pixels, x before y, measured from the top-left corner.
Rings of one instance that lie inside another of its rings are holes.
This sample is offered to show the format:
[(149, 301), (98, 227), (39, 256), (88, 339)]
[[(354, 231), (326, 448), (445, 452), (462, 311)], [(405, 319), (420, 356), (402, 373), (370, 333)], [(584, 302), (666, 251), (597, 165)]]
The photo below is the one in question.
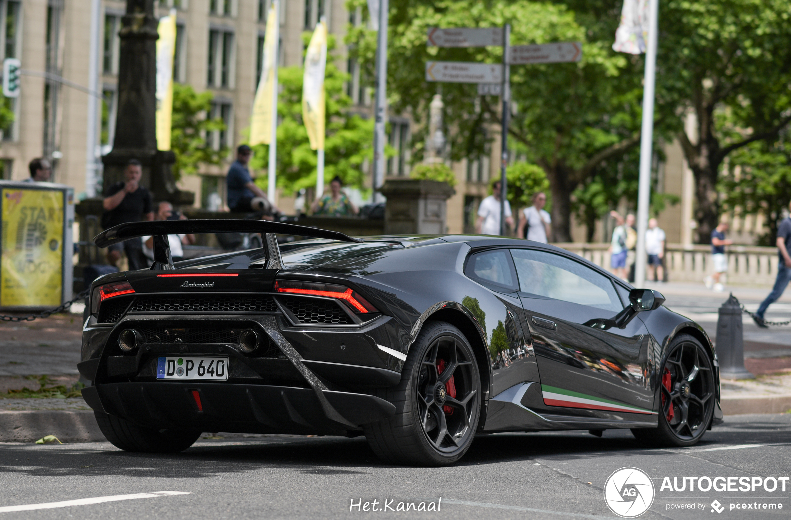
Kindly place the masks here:
[[(263, 247), (172, 264), (168, 234), (230, 232)], [(446, 465), (499, 431), (691, 446), (722, 422), (706, 332), (551, 245), (237, 220), (122, 224), (96, 243), (144, 235), (150, 270), (93, 283), (78, 366), (123, 450), (176, 452), (203, 431), (365, 435), (385, 461)]]

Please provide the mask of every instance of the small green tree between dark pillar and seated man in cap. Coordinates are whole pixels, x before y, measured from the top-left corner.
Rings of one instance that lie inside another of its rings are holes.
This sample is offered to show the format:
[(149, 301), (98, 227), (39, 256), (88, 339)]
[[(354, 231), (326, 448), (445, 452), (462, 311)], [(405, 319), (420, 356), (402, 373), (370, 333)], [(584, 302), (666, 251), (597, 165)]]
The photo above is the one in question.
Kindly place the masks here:
[(213, 97), (209, 91), (196, 93), (190, 85), (173, 84), (170, 149), (176, 154), (176, 164), (173, 165), (176, 180), (182, 175), (197, 173), (200, 164), (218, 165), (228, 155), (227, 147), (215, 150), (206, 142), (206, 135), (210, 132), (225, 131), (225, 123), (221, 119), (207, 117)]

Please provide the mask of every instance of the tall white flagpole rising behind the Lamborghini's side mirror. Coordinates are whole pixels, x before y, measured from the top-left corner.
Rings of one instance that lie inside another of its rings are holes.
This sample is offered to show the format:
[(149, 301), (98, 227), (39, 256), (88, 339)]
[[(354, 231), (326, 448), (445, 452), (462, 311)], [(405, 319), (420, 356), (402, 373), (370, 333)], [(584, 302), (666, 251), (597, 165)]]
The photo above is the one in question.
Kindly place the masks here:
[(657, 67), (657, 17), (659, 0), (649, 0), (649, 31), (645, 49), (645, 78), (643, 81), (643, 114), (640, 135), (640, 184), (638, 186), (638, 243), (634, 263), (634, 286), (645, 283), (645, 231), (648, 229), (651, 202), (651, 163), (653, 145), (653, 96)]

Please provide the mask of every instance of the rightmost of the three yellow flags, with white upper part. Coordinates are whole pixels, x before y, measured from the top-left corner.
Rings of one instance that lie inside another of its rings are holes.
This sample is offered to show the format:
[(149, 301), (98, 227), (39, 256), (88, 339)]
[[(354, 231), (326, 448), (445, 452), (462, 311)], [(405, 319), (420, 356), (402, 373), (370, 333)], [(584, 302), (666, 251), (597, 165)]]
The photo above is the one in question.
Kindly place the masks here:
[(308, 130), (312, 150), (324, 150), (324, 69), (327, 66), (327, 25), (316, 24), (316, 30), (305, 54), (305, 75), (302, 78), (302, 119)]

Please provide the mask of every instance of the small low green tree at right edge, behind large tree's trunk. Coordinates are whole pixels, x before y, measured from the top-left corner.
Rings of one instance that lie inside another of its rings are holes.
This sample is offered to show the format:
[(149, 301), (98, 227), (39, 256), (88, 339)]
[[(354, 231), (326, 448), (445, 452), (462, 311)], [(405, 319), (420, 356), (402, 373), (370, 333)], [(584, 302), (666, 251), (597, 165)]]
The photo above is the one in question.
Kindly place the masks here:
[(725, 210), (763, 215), (769, 230), (759, 245), (774, 245), (782, 212), (791, 203), (791, 150), (785, 139), (751, 142), (736, 150), (719, 188), (725, 193)]

